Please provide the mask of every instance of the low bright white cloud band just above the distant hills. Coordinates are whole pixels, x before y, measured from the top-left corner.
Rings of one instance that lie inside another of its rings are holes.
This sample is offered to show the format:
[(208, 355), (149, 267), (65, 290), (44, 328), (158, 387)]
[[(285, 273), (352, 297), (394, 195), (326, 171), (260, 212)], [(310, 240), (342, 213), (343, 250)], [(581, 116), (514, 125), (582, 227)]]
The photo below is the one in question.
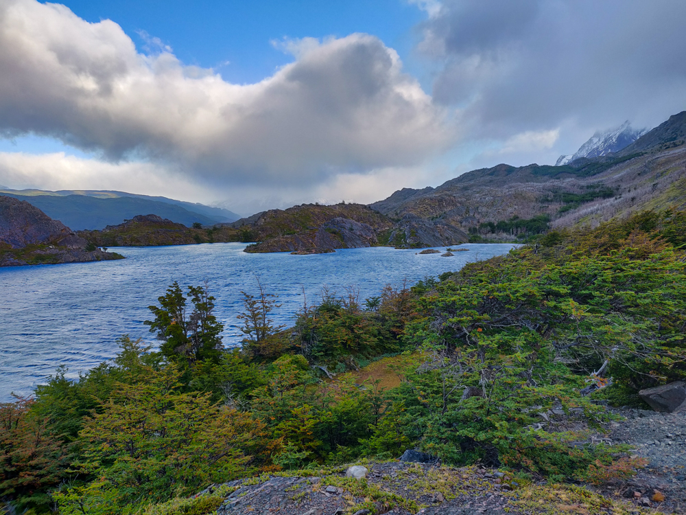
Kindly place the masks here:
[(218, 189), (211, 183), (202, 183), (180, 170), (156, 163), (108, 163), (64, 152), (42, 155), (0, 152), (0, 184), (16, 190), (117, 190), (161, 195), (220, 204), (244, 216), (302, 203), (372, 203), (386, 198), (399, 187), (424, 187), (426, 180), (427, 174), (421, 167), (381, 168), (366, 174), (336, 174), (304, 186), (243, 185)]

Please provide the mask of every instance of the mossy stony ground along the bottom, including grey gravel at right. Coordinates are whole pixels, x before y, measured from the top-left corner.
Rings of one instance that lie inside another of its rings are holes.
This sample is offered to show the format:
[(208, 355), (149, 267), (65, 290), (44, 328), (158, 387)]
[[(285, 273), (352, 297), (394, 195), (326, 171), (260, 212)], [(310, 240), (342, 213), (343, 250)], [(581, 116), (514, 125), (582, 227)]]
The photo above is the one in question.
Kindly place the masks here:
[(686, 413), (613, 412), (624, 420), (598, 437), (634, 446), (648, 464), (631, 479), (599, 488), (527, 483), (482, 466), (389, 461), (363, 464), (364, 481), (346, 477), (341, 467), (263, 474), (202, 494), (221, 495), (218, 515), (686, 514)]

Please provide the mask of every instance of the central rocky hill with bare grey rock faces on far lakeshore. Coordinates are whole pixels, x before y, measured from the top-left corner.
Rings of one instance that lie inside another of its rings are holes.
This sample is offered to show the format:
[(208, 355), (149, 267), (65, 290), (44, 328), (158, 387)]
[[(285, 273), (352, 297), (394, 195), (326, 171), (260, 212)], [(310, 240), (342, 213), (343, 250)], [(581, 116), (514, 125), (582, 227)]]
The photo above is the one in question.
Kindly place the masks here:
[(414, 214), (397, 219), (360, 204), (307, 204), (272, 209), (230, 225), (253, 240), (246, 252), (319, 253), (390, 245), (399, 248), (458, 244), (467, 240), (458, 227)]

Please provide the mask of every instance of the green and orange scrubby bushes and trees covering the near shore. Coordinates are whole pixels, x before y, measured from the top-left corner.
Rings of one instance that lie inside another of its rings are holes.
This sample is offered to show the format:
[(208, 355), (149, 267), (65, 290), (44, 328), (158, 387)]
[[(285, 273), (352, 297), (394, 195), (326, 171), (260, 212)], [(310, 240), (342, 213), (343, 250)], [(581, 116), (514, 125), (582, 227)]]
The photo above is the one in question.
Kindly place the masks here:
[[(0, 405), (0, 496), (20, 512), (201, 513), (182, 499), (210, 483), (414, 447), (557, 482), (626, 477), (628, 446), (584, 431), (611, 416), (598, 400), (686, 378), (685, 235), (673, 210), (548, 231), (377, 297), (324, 289), (288, 329), (258, 279), (239, 349), (222, 345), (211, 285), (174, 283), (150, 306), (156, 350), (124, 336), (113, 361)], [(392, 388), (356, 382), (398, 354)]]

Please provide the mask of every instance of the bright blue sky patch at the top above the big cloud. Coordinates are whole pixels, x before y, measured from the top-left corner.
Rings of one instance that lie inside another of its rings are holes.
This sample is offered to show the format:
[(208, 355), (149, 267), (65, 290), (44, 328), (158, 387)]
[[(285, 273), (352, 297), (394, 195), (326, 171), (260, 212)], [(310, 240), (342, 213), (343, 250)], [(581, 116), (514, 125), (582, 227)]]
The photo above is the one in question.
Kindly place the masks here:
[[(141, 52), (145, 31), (188, 65), (216, 68), (230, 82), (257, 82), (292, 60), (270, 43), (281, 38), (374, 34), (410, 65), (413, 30), (425, 13), (405, 0), (67, 0), (81, 18), (112, 19)], [(225, 62), (228, 65), (223, 65)], [(410, 65), (411, 66), (411, 65)], [(413, 71), (418, 71), (418, 68)]]

